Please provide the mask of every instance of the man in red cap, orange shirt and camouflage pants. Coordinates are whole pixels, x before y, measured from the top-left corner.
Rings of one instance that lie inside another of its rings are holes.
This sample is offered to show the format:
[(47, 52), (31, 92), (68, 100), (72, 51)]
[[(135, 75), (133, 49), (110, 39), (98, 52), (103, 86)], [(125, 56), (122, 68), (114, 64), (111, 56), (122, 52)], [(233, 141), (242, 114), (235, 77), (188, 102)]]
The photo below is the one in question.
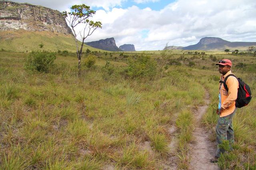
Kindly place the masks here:
[(234, 143), (234, 130), (232, 126), (232, 118), (236, 112), (236, 98), (238, 92), (238, 80), (234, 76), (228, 77), (226, 85), (228, 91), (225, 89), (223, 83), (225, 77), (231, 74), (232, 62), (229, 59), (222, 59), (216, 65), (219, 66), (219, 72), (222, 74), (220, 81), (219, 92), (219, 105), (217, 114), (219, 115), (218, 123), (216, 125), (216, 142), (217, 151), (216, 156), (211, 159), (211, 162), (218, 162), (218, 158), (224, 150), (219, 147), (219, 144), (223, 140), (228, 140), (230, 149), (232, 150), (232, 144)]

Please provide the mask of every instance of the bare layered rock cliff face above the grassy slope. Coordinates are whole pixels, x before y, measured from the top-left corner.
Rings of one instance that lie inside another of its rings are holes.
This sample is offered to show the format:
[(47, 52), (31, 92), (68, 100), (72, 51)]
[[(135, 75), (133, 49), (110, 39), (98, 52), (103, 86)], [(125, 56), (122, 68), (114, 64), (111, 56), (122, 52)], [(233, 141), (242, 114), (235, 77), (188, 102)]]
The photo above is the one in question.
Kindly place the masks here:
[(65, 18), (57, 10), (0, 1), (0, 30), (18, 29), (72, 34)]

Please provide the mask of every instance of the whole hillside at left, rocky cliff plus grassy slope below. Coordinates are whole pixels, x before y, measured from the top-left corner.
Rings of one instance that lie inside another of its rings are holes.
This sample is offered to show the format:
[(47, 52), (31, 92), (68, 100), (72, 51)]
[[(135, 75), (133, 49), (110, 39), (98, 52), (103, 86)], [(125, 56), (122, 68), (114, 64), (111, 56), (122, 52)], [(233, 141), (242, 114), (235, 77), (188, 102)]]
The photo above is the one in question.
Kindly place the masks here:
[[(0, 1), (0, 49), (8, 51), (76, 51), (73, 34), (57, 10)], [(88, 45), (84, 49), (99, 51)], [(102, 51), (102, 50), (100, 50)]]

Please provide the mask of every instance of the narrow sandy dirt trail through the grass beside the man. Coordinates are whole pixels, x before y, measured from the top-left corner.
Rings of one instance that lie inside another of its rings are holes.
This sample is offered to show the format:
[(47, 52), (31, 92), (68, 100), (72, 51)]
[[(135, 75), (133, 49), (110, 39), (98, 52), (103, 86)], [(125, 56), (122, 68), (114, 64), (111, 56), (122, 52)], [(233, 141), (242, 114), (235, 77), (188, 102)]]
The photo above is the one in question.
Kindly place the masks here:
[(210, 132), (204, 127), (201, 127), (202, 116), (206, 113), (208, 104), (210, 103), (209, 93), (206, 91), (206, 105), (198, 107), (198, 110), (194, 111), (196, 114), (196, 127), (193, 132), (195, 137), (194, 142), (190, 144), (191, 150), (191, 170), (218, 170), (217, 163), (211, 163), (210, 159), (215, 156), (216, 145), (209, 140)]

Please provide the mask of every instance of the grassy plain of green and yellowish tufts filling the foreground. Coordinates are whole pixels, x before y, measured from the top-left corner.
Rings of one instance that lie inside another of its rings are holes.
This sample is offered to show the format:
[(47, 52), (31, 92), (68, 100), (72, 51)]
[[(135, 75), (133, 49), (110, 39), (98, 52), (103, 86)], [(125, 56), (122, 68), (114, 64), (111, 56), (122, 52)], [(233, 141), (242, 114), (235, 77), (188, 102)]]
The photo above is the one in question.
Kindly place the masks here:
[[(214, 140), (214, 63), (232, 59), (233, 72), (254, 94), (256, 58), (172, 51), (161, 70), (160, 52), (144, 52), (158, 63), (153, 78), (124, 74), (128, 58), (141, 53), (94, 52), (96, 66), (83, 67), (78, 79), (74, 53), (58, 53), (50, 73), (39, 73), (23, 69), (26, 53), (0, 51), (0, 169), (164, 169), (173, 155), (177, 168), (189, 169), (192, 110), (205, 104), (205, 91), (211, 103), (202, 125)], [(221, 169), (256, 168), (255, 110), (253, 98), (236, 113), (235, 150), (220, 158)]]

